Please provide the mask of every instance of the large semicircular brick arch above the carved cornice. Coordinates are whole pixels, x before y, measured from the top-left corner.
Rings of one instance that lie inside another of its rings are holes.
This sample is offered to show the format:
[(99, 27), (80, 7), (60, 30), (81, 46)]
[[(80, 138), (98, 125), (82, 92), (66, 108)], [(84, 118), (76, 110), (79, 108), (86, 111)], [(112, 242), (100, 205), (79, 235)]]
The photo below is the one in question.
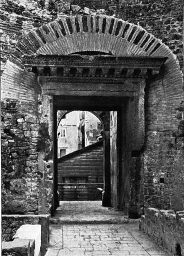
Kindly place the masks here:
[[(27, 74), (24, 69), (22, 55), (67, 55), (83, 51), (168, 57), (165, 62), (164, 78), (160, 79), (160, 86), (165, 94), (166, 105), (172, 106), (169, 110), (170, 114), (175, 115), (173, 109), (177, 108), (183, 100), (182, 75), (176, 56), (161, 40), (147, 33), (142, 27), (107, 15), (65, 17), (43, 25), (28, 34), (18, 43), (6, 63), (2, 76), (2, 97), (6, 98), (11, 95), (8, 89), (12, 90), (12, 84), (14, 84), (13, 97), (15, 98), (21, 94), (21, 92), (16, 92), (19, 84), (23, 84), (25, 90), (30, 90), (30, 88), (33, 90), (37, 86), (35, 75)], [(6, 89), (3, 90), (3, 88)], [(23, 95), (22, 100), (25, 100)], [(168, 110), (165, 108), (165, 111)]]

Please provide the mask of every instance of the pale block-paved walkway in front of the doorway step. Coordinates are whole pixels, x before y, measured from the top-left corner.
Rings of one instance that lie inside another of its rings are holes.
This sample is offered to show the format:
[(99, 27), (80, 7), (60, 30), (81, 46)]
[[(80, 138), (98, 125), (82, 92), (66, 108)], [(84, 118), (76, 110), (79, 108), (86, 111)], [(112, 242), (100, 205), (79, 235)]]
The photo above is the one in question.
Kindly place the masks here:
[(137, 223), (51, 224), (51, 247), (45, 256), (169, 256)]

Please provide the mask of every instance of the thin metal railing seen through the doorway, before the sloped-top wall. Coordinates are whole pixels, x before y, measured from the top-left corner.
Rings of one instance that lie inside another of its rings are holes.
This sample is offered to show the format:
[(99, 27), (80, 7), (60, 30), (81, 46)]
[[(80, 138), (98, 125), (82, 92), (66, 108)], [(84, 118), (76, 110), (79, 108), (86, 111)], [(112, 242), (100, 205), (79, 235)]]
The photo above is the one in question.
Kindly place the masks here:
[(58, 183), (60, 201), (102, 200), (103, 183)]

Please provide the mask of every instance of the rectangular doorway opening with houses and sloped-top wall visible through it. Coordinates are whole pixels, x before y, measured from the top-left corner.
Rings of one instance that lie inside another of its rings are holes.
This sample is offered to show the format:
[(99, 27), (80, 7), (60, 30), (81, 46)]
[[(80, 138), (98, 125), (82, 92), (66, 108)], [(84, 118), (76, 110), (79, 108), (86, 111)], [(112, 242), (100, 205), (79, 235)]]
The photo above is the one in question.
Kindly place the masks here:
[[(121, 116), (125, 102), (125, 97), (54, 96), (54, 116), (57, 124), (54, 190), (57, 206), (59, 201), (65, 200), (102, 200), (103, 206), (111, 207), (114, 206), (114, 196), (118, 203), (121, 186), (118, 178), (121, 168), (121, 119), (117, 116)], [(116, 121), (111, 120), (112, 113), (116, 113)], [(71, 123), (77, 115), (79, 124), (81, 118), (81, 123), (85, 122), (86, 127)], [(94, 124), (88, 122), (89, 116), (94, 116)], [(75, 128), (72, 133), (77, 137), (72, 139), (77, 149), (71, 149), (72, 152), (66, 146), (68, 136), (71, 139), (71, 126)], [(90, 144), (90, 138), (95, 143)], [(65, 146), (60, 141), (64, 141)], [(110, 161), (112, 157), (113, 161)], [(111, 172), (116, 176), (115, 179)]]

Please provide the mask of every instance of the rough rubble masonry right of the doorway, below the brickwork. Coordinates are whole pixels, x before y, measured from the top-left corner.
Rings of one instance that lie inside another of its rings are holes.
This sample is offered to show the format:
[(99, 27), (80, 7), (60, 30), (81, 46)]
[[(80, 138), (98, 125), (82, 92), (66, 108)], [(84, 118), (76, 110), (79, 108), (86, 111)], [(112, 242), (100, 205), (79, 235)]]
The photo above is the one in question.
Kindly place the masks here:
[(147, 132), (144, 161), (146, 207), (184, 209), (184, 138), (171, 131)]

